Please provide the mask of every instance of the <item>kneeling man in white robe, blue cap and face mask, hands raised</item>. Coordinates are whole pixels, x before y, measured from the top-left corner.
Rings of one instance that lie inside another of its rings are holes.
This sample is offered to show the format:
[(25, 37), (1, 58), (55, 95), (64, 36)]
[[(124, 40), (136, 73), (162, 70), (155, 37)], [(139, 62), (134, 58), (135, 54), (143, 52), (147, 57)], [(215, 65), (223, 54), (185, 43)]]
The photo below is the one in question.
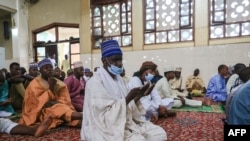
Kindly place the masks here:
[(128, 91), (120, 73), (122, 51), (115, 40), (102, 43), (102, 62), (85, 88), (81, 140), (84, 141), (165, 141), (160, 126), (143, 120), (145, 110), (140, 98), (152, 87)]

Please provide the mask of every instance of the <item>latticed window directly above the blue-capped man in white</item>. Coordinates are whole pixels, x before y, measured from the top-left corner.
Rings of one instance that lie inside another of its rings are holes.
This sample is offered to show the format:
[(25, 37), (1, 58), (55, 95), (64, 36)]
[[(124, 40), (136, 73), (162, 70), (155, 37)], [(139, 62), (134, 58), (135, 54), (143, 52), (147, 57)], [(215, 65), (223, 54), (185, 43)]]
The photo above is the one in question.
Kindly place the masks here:
[(107, 39), (115, 39), (124, 46), (132, 45), (132, 9), (131, 0), (111, 0), (98, 2), (92, 0), (92, 45), (100, 48)]

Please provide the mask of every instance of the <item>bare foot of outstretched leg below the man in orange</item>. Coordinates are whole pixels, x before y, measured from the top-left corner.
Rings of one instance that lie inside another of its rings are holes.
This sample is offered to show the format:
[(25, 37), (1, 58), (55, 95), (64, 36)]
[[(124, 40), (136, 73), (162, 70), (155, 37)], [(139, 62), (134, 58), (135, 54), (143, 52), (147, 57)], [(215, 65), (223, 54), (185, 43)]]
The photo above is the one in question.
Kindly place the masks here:
[(49, 128), (50, 124), (52, 123), (52, 119), (51, 117), (48, 117), (47, 119), (45, 119), (44, 121), (42, 121), (40, 123), (40, 125), (38, 125), (36, 132), (35, 132), (35, 137), (41, 137), (44, 135), (44, 133), (46, 132), (46, 130)]

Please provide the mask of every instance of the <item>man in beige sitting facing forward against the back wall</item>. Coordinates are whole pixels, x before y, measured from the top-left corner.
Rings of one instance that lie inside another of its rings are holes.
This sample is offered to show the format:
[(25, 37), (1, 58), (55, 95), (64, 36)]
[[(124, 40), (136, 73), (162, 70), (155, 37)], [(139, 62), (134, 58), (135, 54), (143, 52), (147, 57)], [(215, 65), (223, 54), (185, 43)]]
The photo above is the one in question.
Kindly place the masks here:
[(192, 96), (204, 96), (206, 93), (205, 84), (199, 74), (200, 70), (195, 69), (194, 74), (190, 75), (186, 81), (186, 88)]

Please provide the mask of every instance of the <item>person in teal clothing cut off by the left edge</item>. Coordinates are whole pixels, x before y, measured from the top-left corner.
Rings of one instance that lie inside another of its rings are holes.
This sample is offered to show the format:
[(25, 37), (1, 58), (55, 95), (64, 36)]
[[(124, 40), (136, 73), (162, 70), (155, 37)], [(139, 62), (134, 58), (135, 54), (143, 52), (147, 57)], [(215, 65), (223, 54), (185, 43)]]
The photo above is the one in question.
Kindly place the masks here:
[(9, 85), (4, 72), (0, 70), (0, 117), (8, 117), (14, 113), (9, 96)]

